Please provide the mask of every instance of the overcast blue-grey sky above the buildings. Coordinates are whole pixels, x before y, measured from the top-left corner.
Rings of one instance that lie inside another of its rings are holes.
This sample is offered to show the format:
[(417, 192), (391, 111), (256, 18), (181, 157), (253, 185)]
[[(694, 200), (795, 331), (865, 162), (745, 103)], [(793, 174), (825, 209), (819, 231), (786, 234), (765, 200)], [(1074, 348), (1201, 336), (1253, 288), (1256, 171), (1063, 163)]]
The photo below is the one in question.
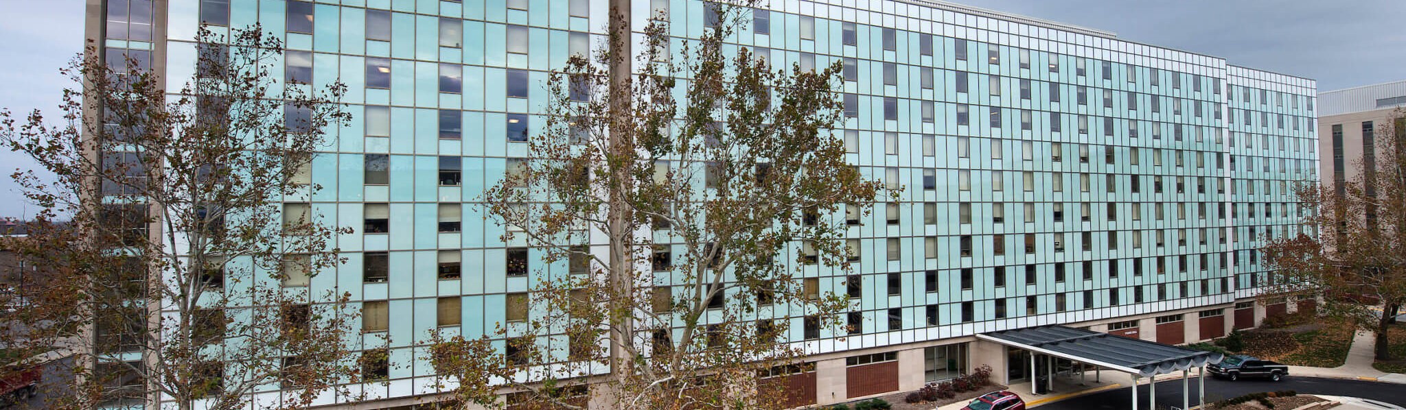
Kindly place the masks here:
[[(195, 0), (180, 0), (195, 1)], [(1316, 79), (1319, 90), (1406, 79), (1406, 0), (965, 0), (976, 7), (1116, 32), (1119, 38)], [(0, 107), (53, 111), (58, 74), (83, 48), (82, 0), (0, 0)], [(51, 114), (51, 117), (53, 117)], [(0, 216), (32, 213), (0, 153)]]

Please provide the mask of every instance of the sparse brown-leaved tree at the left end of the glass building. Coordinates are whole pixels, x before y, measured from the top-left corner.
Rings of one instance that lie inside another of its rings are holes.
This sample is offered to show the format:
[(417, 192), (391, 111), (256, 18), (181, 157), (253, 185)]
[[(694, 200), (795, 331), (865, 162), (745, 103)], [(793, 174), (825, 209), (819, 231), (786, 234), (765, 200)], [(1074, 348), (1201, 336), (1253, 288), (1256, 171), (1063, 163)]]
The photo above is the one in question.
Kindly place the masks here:
[(181, 90), (141, 56), (90, 49), (65, 69), (80, 87), (62, 121), (0, 114), (0, 139), (56, 177), (14, 174), (42, 211), (11, 246), (44, 281), (0, 329), (7, 347), (73, 354), (76, 385), (52, 407), (294, 409), (357, 381), (344, 340), (359, 315), (308, 286), (350, 233), (308, 205), (309, 163), (350, 119), (346, 87), (280, 81), (283, 45), (259, 25), (197, 41)]

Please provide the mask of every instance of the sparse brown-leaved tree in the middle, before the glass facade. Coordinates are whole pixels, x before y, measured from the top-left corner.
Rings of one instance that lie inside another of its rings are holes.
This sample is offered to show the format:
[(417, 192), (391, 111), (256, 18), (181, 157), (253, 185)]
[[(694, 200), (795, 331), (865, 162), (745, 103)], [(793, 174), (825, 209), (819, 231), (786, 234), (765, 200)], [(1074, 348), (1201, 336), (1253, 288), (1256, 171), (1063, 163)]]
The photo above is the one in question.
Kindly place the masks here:
[[(432, 355), (457, 400), (498, 406), (505, 386), (515, 409), (756, 409), (792, 393), (770, 378), (803, 371), (792, 324), (818, 331), (849, 309), (803, 267), (848, 268), (845, 215), (884, 188), (832, 133), (841, 65), (730, 56), (755, 6), (738, 3), (713, 4), (707, 32), (678, 53), (657, 18), (637, 74), (620, 76), (633, 55), (612, 31), (606, 51), (553, 76), (547, 128), (517, 136), (529, 156), (485, 194), (523, 249), (508, 268), (530, 274), (530, 292), (508, 296), (503, 343), (433, 337), (437, 351), (477, 352)], [(536, 256), (548, 267), (519, 265)]]

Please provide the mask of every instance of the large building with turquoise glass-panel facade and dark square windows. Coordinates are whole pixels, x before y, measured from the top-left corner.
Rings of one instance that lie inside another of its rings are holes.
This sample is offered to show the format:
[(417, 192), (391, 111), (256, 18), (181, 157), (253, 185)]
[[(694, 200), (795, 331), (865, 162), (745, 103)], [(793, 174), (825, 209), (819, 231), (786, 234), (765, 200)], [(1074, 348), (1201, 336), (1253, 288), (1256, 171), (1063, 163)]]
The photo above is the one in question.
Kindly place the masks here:
[[(681, 41), (709, 24), (702, 0), (633, 3), (636, 31), (655, 13)], [(262, 24), (287, 44), (284, 80), (350, 87), (356, 118), (311, 171), (323, 191), (287, 209), (359, 227), (337, 237), (344, 265), (297, 285), (353, 295), (359, 348), (389, 340), (388, 382), (364, 386), (378, 403), (433, 393), (430, 330), (491, 334), (529, 315), (538, 270), (567, 270), (502, 242), (474, 202), (544, 126), (548, 72), (600, 46), (606, 0), (89, 6), (101, 52), (149, 58), (173, 90), (201, 22)], [(987, 331), (1059, 323), (1178, 344), (1296, 309), (1253, 296), (1270, 281), (1257, 249), (1301, 229), (1292, 188), (1319, 180), (1313, 80), (921, 0), (772, 0), (731, 41), (775, 66), (842, 62), (835, 138), (905, 188), (851, 220), (852, 271), (804, 270), (823, 292), (858, 286), (858, 333), (778, 313), (813, 352), (811, 403), (980, 365), (1029, 378), (1025, 352), (973, 337)]]

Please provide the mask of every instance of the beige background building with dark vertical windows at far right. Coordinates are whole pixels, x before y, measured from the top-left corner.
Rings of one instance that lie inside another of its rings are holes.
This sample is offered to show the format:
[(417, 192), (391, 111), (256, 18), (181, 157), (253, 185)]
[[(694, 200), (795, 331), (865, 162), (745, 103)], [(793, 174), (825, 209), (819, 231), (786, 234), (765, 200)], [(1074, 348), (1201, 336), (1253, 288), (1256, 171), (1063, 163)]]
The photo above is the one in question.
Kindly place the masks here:
[(1324, 187), (1339, 187), (1375, 164), (1374, 135), (1406, 107), (1406, 81), (1324, 91), (1319, 94), (1320, 176)]

